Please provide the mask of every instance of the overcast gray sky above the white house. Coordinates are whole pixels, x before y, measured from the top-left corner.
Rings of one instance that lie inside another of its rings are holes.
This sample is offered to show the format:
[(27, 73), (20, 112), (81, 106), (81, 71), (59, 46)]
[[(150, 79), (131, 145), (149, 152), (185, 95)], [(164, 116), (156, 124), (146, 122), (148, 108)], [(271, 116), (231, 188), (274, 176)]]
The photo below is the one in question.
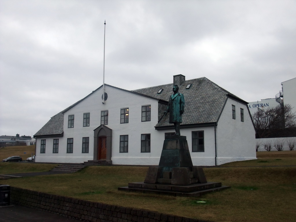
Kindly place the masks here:
[(0, 0), (0, 135), (34, 135), (103, 83), (206, 77), (247, 102), (296, 77), (296, 1)]

